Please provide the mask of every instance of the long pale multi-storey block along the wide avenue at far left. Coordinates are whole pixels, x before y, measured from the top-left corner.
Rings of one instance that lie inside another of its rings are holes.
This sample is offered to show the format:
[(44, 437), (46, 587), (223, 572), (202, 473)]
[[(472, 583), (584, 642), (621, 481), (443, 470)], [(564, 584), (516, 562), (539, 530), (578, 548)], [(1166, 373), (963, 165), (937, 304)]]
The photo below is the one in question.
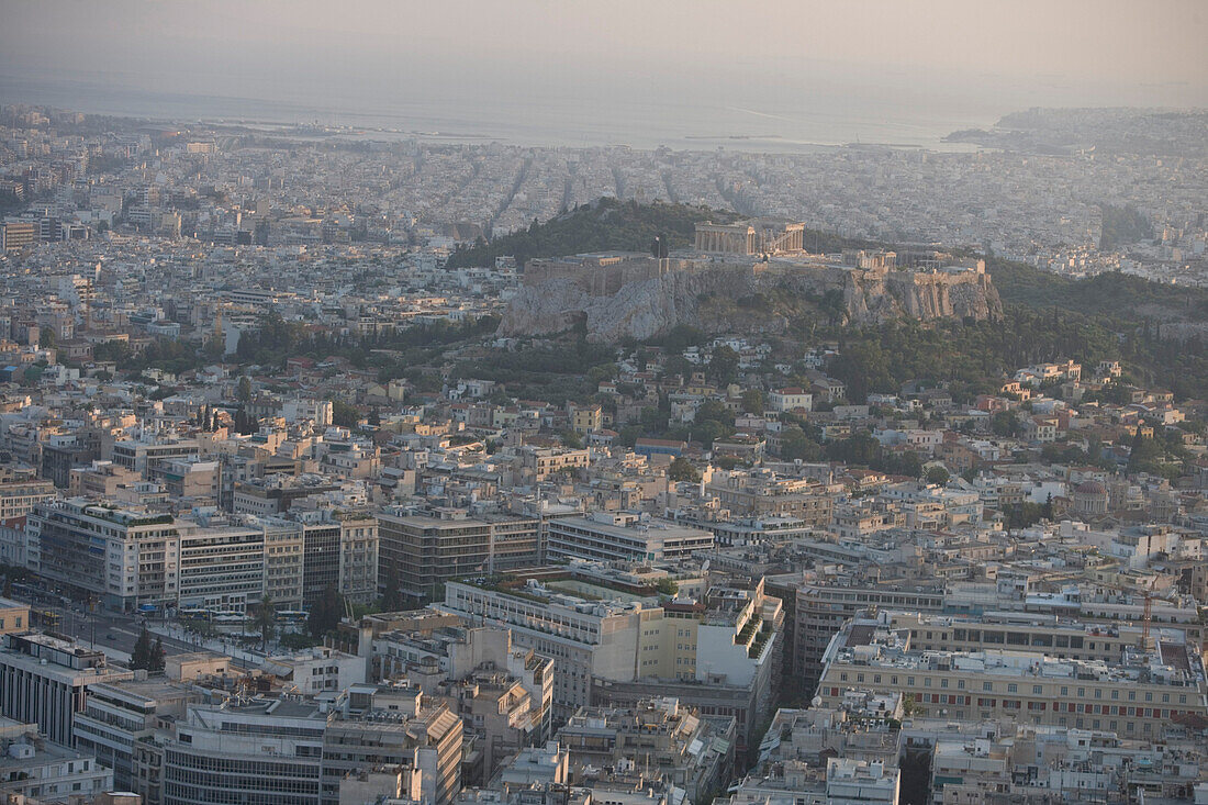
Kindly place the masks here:
[(88, 498), (35, 505), (28, 566), (109, 609), (201, 607), (245, 612), (313, 603), (327, 586), (377, 597), (377, 522), (327, 511), (259, 520), (214, 509), (173, 517)]

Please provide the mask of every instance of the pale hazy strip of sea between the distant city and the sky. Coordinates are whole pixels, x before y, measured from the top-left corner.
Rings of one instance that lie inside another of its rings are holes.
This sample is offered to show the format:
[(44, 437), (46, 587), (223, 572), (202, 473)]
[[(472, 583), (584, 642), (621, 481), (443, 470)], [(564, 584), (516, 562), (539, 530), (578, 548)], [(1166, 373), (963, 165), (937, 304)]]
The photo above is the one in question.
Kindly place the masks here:
[(540, 147), (627, 146), (794, 154), (860, 144), (939, 151), (964, 128), (986, 128), (1016, 106), (993, 99), (899, 97), (884, 91), (785, 95), (738, 87), (670, 98), (574, 92), (288, 92), (250, 80), (237, 94), (140, 86), (98, 76), (0, 73), (0, 105), (35, 104), (157, 122), (307, 126), (361, 139), (503, 143)]

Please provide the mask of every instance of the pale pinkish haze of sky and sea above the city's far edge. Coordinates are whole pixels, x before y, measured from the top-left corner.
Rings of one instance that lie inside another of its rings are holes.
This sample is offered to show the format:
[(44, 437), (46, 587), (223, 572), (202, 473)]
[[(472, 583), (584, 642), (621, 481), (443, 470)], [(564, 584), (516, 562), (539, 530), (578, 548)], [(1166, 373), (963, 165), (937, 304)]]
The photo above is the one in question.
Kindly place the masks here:
[(1196, 2), (10, 2), (0, 88), (105, 114), (372, 122), (521, 145), (934, 144), (1035, 105), (1203, 105), (1206, 13)]

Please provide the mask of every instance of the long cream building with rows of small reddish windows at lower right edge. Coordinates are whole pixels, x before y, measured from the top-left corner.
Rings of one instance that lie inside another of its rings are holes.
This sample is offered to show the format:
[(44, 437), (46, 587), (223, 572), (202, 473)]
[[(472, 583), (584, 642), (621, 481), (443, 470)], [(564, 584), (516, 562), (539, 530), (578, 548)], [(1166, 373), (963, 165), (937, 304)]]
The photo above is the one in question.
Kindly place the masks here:
[[(986, 629), (978, 631), (985, 639)], [(1003, 648), (927, 649), (925, 629), (916, 643), (919, 630), (895, 626), (890, 614), (853, 619), (826, 650), (818, 696), (824, 706), (835, 706), (850, 687), (869, 687), (901, 693), (913, 707), (939, 718), (1012, 717), (1142, 739), (1160, 736), (1179, 719), (1208, 716), (1203, 659), (1181, 632), (1163, 630), (1149, 645), (1125, 644), (1117, 659), (1103, 659), (1117, 645), (1091, 641), (1081, 626), (989, 631), (995, 641), (1001, 636)], [(936, 633), (931, 631), (933, 639)], [(1032, 644), (1034, 637), (1039, 645)], [(1081, 638), (1080, 650), (1099, 656), (1061, 658), (1059, 647), (1044, 645), (1056, 637), (1070, 643)]]

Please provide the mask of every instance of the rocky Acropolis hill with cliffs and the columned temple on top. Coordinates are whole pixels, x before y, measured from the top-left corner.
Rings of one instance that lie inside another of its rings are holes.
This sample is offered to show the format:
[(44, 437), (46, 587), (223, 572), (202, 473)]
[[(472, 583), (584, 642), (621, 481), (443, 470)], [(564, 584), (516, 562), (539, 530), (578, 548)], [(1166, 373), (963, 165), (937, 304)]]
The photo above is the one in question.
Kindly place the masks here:
[[(855, 324), (1001, 314), (982, 260), (930, 250), (815, 255), (802, 233), (801, 224), (769, 219), (707, 222), (696, 226), (693, 248), (664, 257), (608, 251), (529, 260), (499, 332), (553, 334), (579, 322), (600, 342), (649, 338), (679, 324), (769, 332), (823, 300)], [(751, 299), (780, 303), (744, 307)]]

